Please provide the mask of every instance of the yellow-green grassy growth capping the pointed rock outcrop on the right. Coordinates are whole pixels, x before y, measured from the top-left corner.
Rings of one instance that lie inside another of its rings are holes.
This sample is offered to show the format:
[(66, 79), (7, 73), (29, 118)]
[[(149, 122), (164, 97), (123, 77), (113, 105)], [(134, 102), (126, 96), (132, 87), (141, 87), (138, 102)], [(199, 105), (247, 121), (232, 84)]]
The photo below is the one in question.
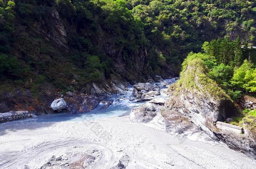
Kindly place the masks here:
[(188, 90), (193, 94), (203, 93), (216, 101), (230, 99), (217, 82), (209, 78), (208, 66), (212, 65), (214, 65), (213, 57), (205, 53), (189, 53), (182, 63), (179, 81), (172, 85), (171, 88), (175, 88), (177, 92)]

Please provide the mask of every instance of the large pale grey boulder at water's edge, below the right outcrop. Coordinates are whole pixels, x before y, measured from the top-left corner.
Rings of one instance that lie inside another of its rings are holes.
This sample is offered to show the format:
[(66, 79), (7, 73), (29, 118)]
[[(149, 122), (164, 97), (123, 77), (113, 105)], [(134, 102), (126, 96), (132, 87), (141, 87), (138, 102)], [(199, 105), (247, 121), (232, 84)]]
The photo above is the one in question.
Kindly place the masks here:
[(131, 122), (148, 123), (157, 115), (157, 109), (150, 104), (143, 104), (139, 107), (133, 108), (130, 114)]

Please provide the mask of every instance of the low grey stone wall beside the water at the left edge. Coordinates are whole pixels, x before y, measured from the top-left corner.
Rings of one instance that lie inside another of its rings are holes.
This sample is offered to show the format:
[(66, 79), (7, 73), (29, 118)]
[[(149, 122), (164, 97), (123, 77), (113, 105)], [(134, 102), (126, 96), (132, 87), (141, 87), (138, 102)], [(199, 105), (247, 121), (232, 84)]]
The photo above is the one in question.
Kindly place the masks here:
[(0, 123), (29, 117), (31, 117), (31, 114), (28, 111), (9, 111), (7, 113), (0, 113)]

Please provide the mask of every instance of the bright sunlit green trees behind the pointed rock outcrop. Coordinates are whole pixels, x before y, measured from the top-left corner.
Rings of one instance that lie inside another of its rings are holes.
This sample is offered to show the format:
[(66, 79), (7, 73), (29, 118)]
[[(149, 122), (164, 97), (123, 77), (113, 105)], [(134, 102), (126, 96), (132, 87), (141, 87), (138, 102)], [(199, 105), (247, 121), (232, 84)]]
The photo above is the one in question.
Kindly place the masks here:
[(183, 69), (188, 61), (200, 58), (208, 77), (236, 101), (243, 92), (256, 92), (256, 68), (248, 60), (253, 50), (246, 45), (243, 46), (239, 39), (229, 38), (205, 42), (204, 53), (190, 53)]

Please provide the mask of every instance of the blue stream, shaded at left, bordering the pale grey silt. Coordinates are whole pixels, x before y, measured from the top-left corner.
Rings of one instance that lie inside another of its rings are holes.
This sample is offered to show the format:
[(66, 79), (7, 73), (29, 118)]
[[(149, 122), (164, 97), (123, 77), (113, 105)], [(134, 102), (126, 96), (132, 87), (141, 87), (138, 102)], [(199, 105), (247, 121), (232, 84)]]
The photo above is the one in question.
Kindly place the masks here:
[[(174, 83), (175, 78), (166, 79), (167, 84)], [(166, 90), (167, 87), (161, 86), (163, 90)], [(99, 104), (97, 108), (93, 111), (81, 113), (81, 114), (46, 114), (38, 116), (36, 118), (23, 119), (18, 121), (11, 121), (7, 123), (0, 124), (0, 136), (7, 134), (8, 132), (16, 132), (19, 130), (36, 130), (39, 128), (44, 128), (51, 126), (57, 122), (76, 122), (84, 121), (86, 123), (91, 123), (95, 119), (107, 118), (107, 117), (120, 117), (127, 116), (130, 114), (132, 108), (140, 106), (145, 103), (145, 101), (136, 102), (130, 101), (129, 98), (133, 97), (133, 86), (130, 86), (127, 95), (125, 96), (113, 96), (111, 99), (114, 100), (112, 105), (109, 108), (101, 109), (104, 104)], [(167, 97), (167, 96), (158, 96), (158, 97)], [(107, 100), (106, 100), (107, 101)]]

